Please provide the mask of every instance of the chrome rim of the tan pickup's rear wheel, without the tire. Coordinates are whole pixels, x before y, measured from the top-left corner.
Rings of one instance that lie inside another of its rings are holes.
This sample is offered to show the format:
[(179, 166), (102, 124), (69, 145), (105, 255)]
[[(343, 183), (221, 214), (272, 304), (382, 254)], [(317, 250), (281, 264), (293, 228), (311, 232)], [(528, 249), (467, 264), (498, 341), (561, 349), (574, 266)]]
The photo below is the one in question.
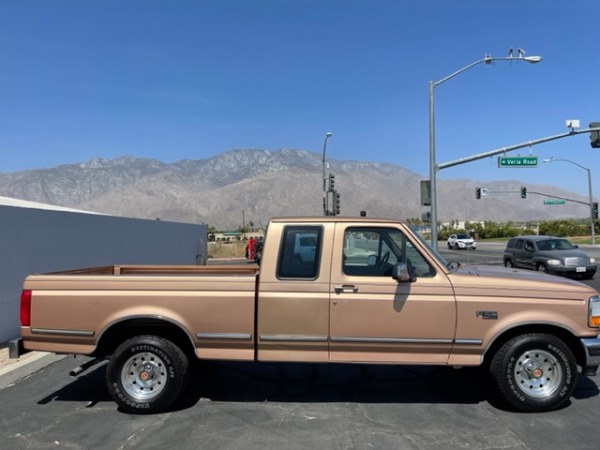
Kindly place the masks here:
[(129, 358), (121, 370), (121, 384), (128, 395), (137, 401), (158, 396), (167, 384), (164, 361), (154, 353), (137, 353)]

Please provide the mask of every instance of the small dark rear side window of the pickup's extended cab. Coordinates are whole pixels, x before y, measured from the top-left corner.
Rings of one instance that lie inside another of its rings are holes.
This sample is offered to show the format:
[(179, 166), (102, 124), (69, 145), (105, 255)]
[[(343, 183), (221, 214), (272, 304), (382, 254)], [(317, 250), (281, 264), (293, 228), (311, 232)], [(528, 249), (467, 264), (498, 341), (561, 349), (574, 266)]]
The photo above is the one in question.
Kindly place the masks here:
[(283, 230), (277, 261), (278, 278), (315, 279), (319, 274), (320, 226), (287, 226)]

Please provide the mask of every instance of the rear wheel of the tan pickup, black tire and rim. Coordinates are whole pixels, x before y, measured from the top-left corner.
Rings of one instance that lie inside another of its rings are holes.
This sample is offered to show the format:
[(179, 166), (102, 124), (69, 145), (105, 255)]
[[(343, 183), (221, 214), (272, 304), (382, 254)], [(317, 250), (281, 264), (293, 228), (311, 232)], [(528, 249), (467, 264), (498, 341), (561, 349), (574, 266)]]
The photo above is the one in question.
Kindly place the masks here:
[(125, 411), (155, 413), (173, 404), (188, 377), (188, 358), (171, 341), (158, 336), (136, 336), (113, 353), (106, 384)]

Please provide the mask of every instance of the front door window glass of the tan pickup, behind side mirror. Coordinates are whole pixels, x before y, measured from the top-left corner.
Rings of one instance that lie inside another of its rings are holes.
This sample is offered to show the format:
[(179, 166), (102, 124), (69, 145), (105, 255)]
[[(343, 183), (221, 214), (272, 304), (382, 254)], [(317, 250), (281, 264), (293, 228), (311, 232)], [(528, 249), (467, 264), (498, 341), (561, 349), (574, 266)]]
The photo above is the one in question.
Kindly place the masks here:
[(344, 274), (389, 277), (397, 262), (405, 263), (414, 277), (435, 275), (433, 267), (400, 230), (378, 227), (346, 230), (342, 261)]

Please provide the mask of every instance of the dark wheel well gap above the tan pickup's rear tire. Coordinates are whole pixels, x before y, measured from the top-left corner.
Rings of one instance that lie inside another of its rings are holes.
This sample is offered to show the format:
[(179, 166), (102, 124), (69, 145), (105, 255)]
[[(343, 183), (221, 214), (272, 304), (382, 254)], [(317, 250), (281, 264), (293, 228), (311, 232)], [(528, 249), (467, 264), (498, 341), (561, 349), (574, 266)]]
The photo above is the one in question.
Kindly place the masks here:
[(160, 319), (136, 318), (119, 322), (105, 330), (94, 355), (110, 355), (127, 339), (141, 335), (160, 336), (173, 342), (188, 355), (194, 352), (190, 336), (178, 325)]

